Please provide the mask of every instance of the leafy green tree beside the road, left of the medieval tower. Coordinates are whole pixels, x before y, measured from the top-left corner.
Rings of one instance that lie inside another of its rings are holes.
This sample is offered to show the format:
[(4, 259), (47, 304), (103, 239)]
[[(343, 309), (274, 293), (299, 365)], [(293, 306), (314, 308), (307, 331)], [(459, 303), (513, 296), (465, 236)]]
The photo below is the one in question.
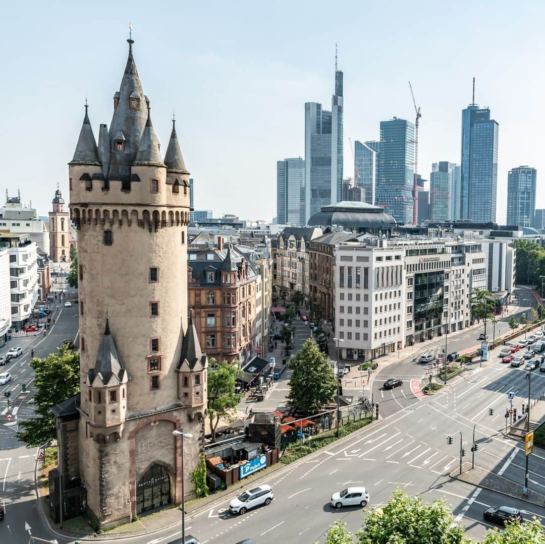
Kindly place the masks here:
[(45, 359), (34, 357), (31, 366), (35, 371), (36, 393), (32, 404), (35, 416), (22, 421), (17, 438), (27, 448), (47, 444), (57, 438), (55, 418), (51, 407), (69, 399), (80, 391), (80, 353), (59, 347)]

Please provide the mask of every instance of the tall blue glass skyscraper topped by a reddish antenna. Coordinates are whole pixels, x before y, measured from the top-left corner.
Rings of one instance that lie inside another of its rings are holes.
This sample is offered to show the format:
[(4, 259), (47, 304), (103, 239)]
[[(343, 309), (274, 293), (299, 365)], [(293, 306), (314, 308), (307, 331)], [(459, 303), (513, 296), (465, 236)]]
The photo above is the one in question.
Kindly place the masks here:
[(496, 220), (498, 132), (489, 108), (473, 103), (462, 111), (460, 219)]

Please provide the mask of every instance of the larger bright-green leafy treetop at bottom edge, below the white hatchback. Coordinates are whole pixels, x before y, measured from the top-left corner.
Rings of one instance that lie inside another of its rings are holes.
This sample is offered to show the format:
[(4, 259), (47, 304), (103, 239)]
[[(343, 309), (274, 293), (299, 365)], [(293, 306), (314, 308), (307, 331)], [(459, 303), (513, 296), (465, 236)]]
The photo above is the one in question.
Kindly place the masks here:
[(359, 544), (469, 544), (443, 499), (433, 503), (396, 489), (386, 506), (372, 510), (358, 533)]

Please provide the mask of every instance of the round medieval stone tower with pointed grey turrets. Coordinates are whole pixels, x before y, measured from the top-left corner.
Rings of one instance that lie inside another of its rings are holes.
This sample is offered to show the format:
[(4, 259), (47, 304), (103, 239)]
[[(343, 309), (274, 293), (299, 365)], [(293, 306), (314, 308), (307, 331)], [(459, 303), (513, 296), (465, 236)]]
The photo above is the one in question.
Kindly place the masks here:
[[(164, 160), (129, 39), (99, 143), (85, 107), (69, 163), (77, 228), (80, 476), (100, 527), (181, 500), (198, 462), (207, 357), (187, 319), (189, 173), (174, 123)], [(184, 334), (185, 333), (185, 334)]]

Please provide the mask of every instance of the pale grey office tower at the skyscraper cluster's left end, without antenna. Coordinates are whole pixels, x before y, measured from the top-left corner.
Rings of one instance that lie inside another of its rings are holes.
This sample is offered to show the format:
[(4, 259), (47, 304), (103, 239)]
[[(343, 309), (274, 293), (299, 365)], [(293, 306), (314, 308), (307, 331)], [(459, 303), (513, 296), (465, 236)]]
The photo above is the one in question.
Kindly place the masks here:
[(305, 161), (276, 162), (276, 217), (280, 224), (305, 226)]

